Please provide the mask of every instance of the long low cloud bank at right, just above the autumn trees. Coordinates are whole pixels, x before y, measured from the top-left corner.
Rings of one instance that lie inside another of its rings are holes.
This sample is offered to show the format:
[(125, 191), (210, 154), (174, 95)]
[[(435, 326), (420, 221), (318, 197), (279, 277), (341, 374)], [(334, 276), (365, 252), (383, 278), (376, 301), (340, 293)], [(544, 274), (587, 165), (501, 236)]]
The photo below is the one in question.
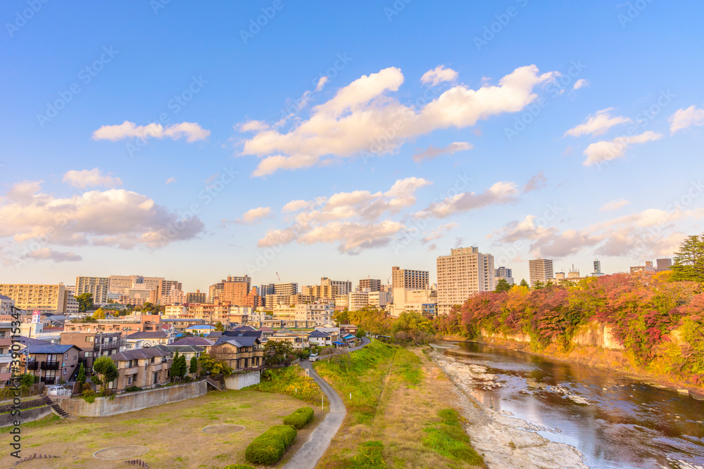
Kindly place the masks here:
[(559, 259), (591, 249), (595, 255), (631, 255), (642, 259), (671, 255), (685, 236), (673, 230), (676, 223), (703, 217), (704, 209), (701, 208), (670, 212), (648, 209), (583, 229), (560, 231), (554, 226), (546, 227), (545, 219), (528, 215), (494, 231), (489, 238), (503, 244), (527, 241), (534, 257)]

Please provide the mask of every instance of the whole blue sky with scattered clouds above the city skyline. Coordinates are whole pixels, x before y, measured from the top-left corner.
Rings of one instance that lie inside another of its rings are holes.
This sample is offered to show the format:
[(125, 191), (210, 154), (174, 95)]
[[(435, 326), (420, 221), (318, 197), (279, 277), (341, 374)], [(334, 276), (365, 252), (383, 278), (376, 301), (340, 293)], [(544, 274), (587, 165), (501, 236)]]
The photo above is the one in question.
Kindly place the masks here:
[(6, 1), (0, 281), (434, 278), (460, 245), (518, 279), (536, 256), (584, 274), (671, 255), (702, 231), (703, 13)]

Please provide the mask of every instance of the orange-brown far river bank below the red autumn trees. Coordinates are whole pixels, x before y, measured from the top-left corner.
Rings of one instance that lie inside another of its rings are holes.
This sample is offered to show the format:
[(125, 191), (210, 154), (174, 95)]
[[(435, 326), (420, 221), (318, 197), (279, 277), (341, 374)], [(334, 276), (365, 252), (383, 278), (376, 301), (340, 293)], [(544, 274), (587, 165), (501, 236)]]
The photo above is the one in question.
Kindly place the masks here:
[[(468, 340), (467, 338), (458, 338), (446, 336), (443, 340), (450, 342), (477, 342), (480, 344), (491, 345), (492, 347), (500, 347), (507, 350), (515, 350), (527, 354), (541, 356), (565, 363), (573, 363), (600, 368), (603, 370), (615, 371), (632, 380), (641, 381), (661, 389), (672, 390), (689, 394), (694, 399), (704, 400), (704, 387), (697, 387), (693, 383), (677, 380), (672, 377), (655, 375), (649, 373), (643, 368), (638, 368), (630, 363), (620, 350), (601, 349), (599, 347), (585, 347), (582, 345), (574, 346), (570, 352), (561, 352), (556, 345), (550, 345), (545, 352), (535, 352), (529, 342), (519, 342), (517, 340), (505, 338), (480, 338), (478, 340)], [(684, 392), (686, 391), (686, 392)]]

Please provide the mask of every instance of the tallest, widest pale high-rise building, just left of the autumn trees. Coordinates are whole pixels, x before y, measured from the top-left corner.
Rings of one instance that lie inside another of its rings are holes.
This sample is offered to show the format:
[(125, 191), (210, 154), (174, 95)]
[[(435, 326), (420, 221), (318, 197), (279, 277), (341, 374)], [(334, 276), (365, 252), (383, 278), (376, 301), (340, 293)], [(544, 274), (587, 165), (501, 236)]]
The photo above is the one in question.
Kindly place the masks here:
[(494, 256), (479, 248), (451, 249), (450, 255), (437, 258), (437, 272), (438, 314), (448, 314), (474, 293), (496, 288)]

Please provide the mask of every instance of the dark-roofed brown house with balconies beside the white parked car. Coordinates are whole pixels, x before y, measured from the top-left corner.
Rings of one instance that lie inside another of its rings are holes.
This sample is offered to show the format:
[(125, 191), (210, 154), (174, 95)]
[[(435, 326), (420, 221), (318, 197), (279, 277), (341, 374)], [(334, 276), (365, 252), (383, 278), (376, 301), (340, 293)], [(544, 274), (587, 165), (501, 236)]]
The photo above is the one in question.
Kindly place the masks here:
[(23, 354), (23, 359), (27, 356), (23, 368), (47, 385), (70, 381), (78, 373), (80, 353), (80, 348), (70, 344), (30, 344)]

